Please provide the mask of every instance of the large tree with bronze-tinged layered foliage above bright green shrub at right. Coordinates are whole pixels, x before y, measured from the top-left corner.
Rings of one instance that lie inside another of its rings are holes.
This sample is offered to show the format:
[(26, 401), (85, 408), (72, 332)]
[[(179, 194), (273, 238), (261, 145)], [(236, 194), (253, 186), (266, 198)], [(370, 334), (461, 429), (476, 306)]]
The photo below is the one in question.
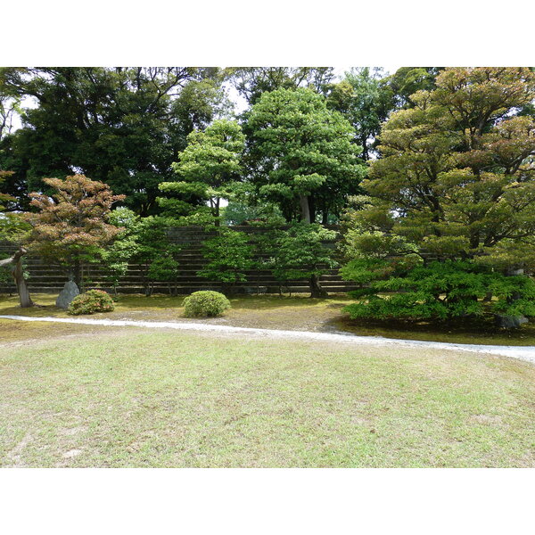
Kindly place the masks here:
[[(390, 257), (384, 255), (391, 270), (377, 271), (387, 278), (399, 256), (415, 252), (424, 263), (430, 254), (464, 260), (467, 265), (458, 265), (463, 273), (473, 273), (475, 264), (506, 275), (535, 270), (535, 121), (518, 114), (535, 97), (535, 74), (523, 68), (446, 69), (435, 84), (411, 95), (414, 107), (397, 111), (383, 127), (382, 158), (363, 183), (371, 200), (354, 214), (356, 250), (370, 258), (393, 247)], [(449, 290), (455, 289), (451, 284)], [(432, 292), (433, 299), (441, 300), (441, 293)], [(477, 292), (471, 295), (478, 300)], [(501, 297), (514, 310), (513, 296)], [(466, 312), (452, 307), (451, 313)]]

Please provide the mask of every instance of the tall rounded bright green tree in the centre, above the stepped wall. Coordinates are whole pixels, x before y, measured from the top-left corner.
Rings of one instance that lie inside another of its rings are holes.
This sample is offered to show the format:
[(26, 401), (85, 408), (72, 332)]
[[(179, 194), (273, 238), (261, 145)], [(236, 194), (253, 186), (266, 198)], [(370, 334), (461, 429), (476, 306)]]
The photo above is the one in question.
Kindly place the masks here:
[[(365, 167), (354, 130), (325, 97), (311, 89), (276, 89), (260, 96), (247, 118), (252, 151), (259, 155), (259, 193), (278, 202), (286, 218), (313, 222), (338, 216), (358, 192)], [(297, 208), (299, 207), (299, 208)]]

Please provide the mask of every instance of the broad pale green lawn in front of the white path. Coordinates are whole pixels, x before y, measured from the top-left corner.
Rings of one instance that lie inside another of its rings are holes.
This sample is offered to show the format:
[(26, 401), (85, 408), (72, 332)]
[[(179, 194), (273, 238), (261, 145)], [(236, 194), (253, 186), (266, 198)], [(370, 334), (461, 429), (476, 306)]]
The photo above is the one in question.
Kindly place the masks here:
[(78, 327), (1, 347), (0, 465), (535, 466), (522, 361)]

